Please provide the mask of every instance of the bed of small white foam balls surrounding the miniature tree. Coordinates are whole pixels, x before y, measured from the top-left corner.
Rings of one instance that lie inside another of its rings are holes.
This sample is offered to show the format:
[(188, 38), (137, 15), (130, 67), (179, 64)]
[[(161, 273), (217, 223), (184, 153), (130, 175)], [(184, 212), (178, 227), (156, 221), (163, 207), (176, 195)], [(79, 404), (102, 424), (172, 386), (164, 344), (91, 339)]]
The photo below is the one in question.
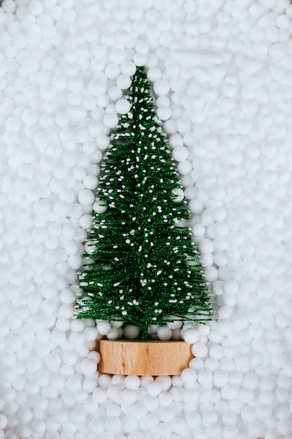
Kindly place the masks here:
[[(288, 0), (3, 1), (0, 439), (292, 438), (291, 18)], [(218, 305), (172, 378), (99, 374), (120, 328), (71, 318), (135, 65)]]

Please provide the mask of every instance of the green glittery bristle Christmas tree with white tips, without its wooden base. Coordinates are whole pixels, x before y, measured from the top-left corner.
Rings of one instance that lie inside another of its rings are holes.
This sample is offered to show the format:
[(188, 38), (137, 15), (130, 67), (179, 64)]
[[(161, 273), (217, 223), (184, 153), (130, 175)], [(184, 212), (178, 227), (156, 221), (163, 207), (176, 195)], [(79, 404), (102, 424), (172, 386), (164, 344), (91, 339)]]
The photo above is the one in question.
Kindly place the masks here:
[(78, 318), (137, 325), (145, 340), (151, 324), (211, 320), (213, 305), (191, 231), (181, 227), (186, 201), (175, 195), (181, 182), (144, 68), (125, 98), (130, 111), (101, 164), (76, 309)]

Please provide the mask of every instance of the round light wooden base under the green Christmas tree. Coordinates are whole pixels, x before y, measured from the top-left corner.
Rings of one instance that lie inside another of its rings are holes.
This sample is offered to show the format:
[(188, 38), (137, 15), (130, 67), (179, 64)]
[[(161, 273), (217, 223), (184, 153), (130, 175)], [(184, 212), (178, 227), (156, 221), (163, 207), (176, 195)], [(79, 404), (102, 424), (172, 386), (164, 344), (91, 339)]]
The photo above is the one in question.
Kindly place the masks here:
[(120, 375), (179, 375), (193, 358), (186, 342), (101, 340), (99, 372)]

